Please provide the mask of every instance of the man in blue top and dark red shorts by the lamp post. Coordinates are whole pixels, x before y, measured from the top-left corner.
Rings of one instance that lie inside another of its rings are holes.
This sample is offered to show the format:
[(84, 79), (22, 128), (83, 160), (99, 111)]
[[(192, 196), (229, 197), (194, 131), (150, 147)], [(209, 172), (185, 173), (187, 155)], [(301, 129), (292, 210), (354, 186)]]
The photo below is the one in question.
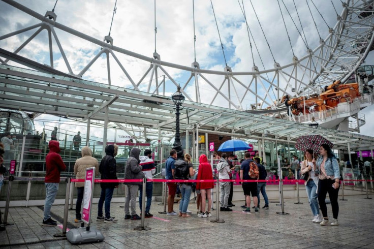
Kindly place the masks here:
[[(175, 160), (177, 158), (177, 151), (175, 149), (170, 150), (170, 156), (165, 162), (165, 179), (174, 180), (174, 171), (175, 171)], [(177, 184), (175, 182), (167, 182), (169, 195), (168, 195), (168, 212), (167, 215), (178, 215), (174, 211), (174, 197), (177, 192)]]

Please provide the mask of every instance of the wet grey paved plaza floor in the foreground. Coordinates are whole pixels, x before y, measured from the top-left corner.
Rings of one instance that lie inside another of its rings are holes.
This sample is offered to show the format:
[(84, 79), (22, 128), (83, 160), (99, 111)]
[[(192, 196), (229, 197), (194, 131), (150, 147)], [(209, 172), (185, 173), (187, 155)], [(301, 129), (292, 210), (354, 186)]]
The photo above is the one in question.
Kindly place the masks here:
[[(112, 203), (111, 215), (117, 223), (96, 221), (97, 204), (94, 204), (92, 227), (97, 227), (105, 236), (104, 242), (72, 245), (66, 239), (57, 239), (53, 234), (61, 228), (42, 227), (42, 207), (10, 208), (6, 231), (0, 232), (0, 247), (8, 248), (374, 248), (374, 200), (364, 199), (366, 195), (347, 196), (348, 201), (339, 201), (339, 226), (321, 226), (311, 222), (312, 215), (306, 198), (303, 204), (294, 204), (296, 199), (285, 200), (285, 212), (275, 202), (270, 209), (261, 209), (259, 214), (241, 212), (243, 201), (236, 201), (233, 212), (221, 212), (225, 223), (211, 223), (212, 217), (199, 218), (196, 204), (190, 203), (193, 211), (190, 218), (159, 214), (163, 206), (153, 202), (153, 218), (146, 219), (149, 231), (135, 231), (140, 221), (124, 220), (120, 203)], [(263, 201), (263, 200), (261, 200)], [(263, 202), (261, 203), (263, 204)], [(138, 203), (137, 203), (138, 206)], [(331, 205), (327, 204), (331, 214)], [(139, 210), (137, 208), (137, 210)], [(178, 205), (174, 205), (178, 210)], [(253, 209), (252, 209), (253, 210)], [(4, 211), (4, 209), (2, 209)], [(52, 218), (61, 222), (64, 206), (52, 207)], [(74, 223), (75, 211), (69, 211), (68, 228), (79, 226)], [(331, 218), (331, 217), (330, 217)]]

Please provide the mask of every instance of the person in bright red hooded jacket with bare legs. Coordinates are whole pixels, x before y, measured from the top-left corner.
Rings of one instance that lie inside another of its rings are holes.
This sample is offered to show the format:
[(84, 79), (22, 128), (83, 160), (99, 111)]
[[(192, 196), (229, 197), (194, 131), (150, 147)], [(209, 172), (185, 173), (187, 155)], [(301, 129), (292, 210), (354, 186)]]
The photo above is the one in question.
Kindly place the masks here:
[[(205, 154), (200, 155), (199, 158), (199, 171), (197, 175), (197, 180), (213, 180), (212, 166), (208, 163), (208, 159)], [(210, 197), (210, 190), (214, 188), (213, 182), (197, 182), (196, 189), (200, 190), (201, 193), (201, 210), (202, 212), (198, 214), (198, 217), (211, 217), (210, 207), (212, 206), (212, 199)], [(205, 212), (205, 198), (208, 198), (208, 208)]]

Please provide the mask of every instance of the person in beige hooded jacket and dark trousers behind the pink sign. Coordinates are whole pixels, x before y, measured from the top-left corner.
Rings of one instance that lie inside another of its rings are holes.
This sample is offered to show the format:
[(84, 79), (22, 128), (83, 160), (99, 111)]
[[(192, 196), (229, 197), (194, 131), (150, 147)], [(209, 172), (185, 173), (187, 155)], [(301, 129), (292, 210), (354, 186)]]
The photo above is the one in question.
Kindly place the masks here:
[[(95, 167), (95, 176), (99, 175), (99, 162), (92, 157), (92, 150), (88, 146), (82, 148), (82, 157), (74, 164), (74, 174), (76, 179), (85, 179), (86, 169)], [(75, 206), (75, 220), (74, 222), (82, 221), (82, 214), (80, 209), (82, 207), (82, 200), (84, 194), (84, 182), (75, 182), (77, 188), (77, 203)]]

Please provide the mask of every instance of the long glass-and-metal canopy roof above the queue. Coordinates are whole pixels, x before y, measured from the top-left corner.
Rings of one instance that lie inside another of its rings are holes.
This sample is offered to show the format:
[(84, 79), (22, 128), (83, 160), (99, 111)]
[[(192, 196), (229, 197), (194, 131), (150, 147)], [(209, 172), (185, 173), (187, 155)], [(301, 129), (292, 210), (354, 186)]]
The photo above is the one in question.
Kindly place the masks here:
[[(108, 122), (128, 133), (136, 127), (147, 137), (158, 137), (160, 129), (170, 138), (174, 134), (171, 98), (127, 88), (0, 65), (0, 98), (3, 108), (79, 120), (106, 120), (107, 109)], [(185, 131), (198, 127), (199, 132), (290, 143), (299, 136), (320, 134), (336, 144), (335, 148), (346, 148), (347, 142), (351, 149), (369, 149), (374, 144), (374, 137), (312, 129), (304, 123), (191, 101), (183, 103), (181, 117), (181, 130)]]

